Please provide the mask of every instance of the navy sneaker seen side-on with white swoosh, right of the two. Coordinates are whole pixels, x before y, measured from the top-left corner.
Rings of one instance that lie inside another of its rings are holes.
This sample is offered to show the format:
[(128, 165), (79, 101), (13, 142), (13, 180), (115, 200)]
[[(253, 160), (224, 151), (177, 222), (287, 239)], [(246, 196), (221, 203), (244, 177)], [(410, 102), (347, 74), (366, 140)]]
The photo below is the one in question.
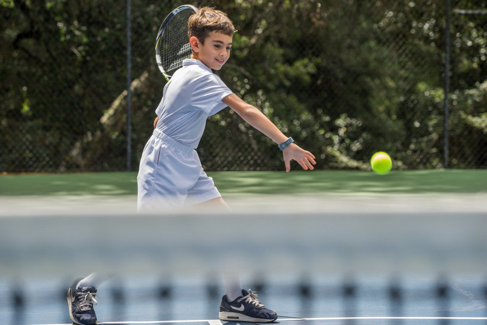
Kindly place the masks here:
[(220, 304), (222, 321), (241, 321), (253, 323), (270, 323), (277, 319), (277, 313), (264, 307), (252, 290), (242, 290), (242, 297), (228, 302), (226, 295)]

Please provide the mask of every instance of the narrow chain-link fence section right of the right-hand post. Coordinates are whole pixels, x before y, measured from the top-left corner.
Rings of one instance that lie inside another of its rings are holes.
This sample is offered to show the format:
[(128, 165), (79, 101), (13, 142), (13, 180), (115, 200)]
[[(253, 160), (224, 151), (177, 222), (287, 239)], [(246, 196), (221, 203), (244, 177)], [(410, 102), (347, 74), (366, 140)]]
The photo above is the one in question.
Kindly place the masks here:
[(452, 167), (487, 166), (487, 2), (480, 2), (451, 14)]

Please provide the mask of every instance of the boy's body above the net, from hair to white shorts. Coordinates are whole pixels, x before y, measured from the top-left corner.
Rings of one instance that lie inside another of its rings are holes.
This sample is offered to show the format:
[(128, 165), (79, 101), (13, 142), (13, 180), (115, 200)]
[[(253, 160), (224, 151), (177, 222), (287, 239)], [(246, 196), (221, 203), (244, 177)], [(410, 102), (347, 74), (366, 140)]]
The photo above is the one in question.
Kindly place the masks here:
[[(280, 145), (286, 172), (293, 159), (303, 169), (312, 170), (316, 162), (311, 153), (292, 143), (261, 111), (233, 94), (211, 72), (220, 70), (230, 55), (232, 22), (223, 12), (206, 7), (191, 16), (188, 24), (192, 57), (166, 84), (156, 110), (155, 130), (142, 153), (137, 176), (138, 208), (158, 210), (162, 200), (166, 206), (211, 203), (227, 208), (194, 151), (206, 118), (226, 106)], [(172, 175), (174, 171), (177, 173)], [(168, 179), (163, 182), (162, 177)]]

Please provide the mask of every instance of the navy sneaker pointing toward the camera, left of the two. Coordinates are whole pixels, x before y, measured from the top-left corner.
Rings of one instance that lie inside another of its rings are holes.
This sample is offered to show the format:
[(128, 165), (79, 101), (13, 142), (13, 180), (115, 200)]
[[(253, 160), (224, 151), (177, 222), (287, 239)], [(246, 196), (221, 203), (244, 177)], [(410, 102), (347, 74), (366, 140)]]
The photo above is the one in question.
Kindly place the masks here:
[(96, 289), (94, 287), (76, 288), (81, 279), (76, 279), (68, 289), (69, 317), (75, 324), (94, 325), (96, 324), (96, 314), (93, 305), (97, 304), (94, 299)]

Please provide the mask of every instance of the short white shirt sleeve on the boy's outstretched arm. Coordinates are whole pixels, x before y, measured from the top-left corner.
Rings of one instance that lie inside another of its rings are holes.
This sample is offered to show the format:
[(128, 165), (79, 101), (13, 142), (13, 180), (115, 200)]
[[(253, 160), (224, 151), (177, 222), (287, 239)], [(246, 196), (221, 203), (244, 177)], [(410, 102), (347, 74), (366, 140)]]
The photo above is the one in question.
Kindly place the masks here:
[(233, 94), (225, 83), (216, 75), (206, 75), (196, 82), (191, 94), (191, 106), (203, 111), (206, 115), (214, 115), (223, 110), (222, 102), (226, 96)]

